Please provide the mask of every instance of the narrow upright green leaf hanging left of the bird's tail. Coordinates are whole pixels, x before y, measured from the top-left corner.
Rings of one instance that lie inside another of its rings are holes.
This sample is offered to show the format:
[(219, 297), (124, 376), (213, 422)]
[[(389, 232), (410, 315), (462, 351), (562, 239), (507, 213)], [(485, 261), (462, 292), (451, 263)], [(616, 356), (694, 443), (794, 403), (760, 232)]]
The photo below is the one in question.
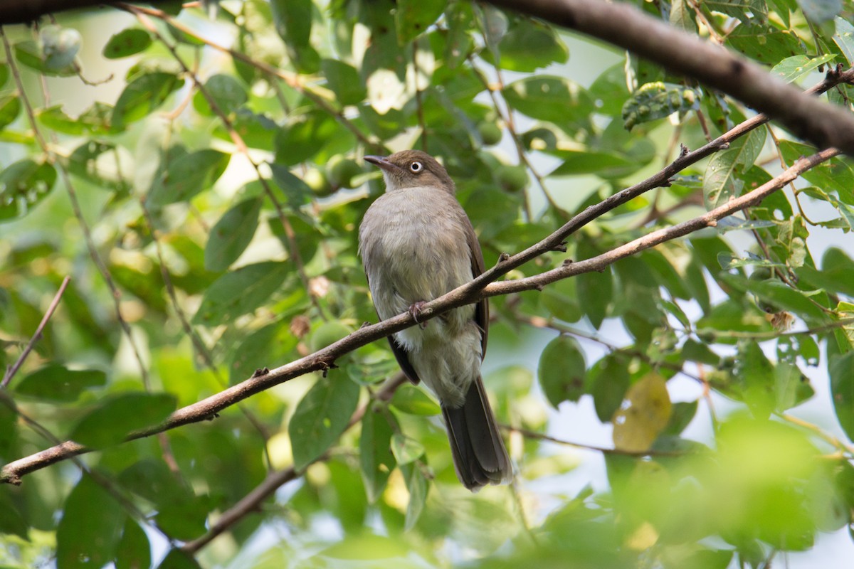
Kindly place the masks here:
[(368, 502), (377, 502), (385, 490), (391, 471), (395, 469), (395, 456), (391, 452), (393, 433), (394, 429), (383, 414), (381, 405), (373, 405), (362, 417), (359, 456)]

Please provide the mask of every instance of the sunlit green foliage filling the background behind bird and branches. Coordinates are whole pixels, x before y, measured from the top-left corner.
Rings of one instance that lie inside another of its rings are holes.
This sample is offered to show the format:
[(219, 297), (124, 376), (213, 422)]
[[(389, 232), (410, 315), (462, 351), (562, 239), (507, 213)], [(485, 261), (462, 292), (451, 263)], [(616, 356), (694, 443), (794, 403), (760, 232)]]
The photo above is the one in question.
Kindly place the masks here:
[[(854, 62), (851, 0), (635, 4), (804, 87)], [(375, 322), (356, 229), (383, 186), (364, 154), (441, 157), (489, 266), (753, 114), (488, 4), (157, 6), (3, 28), (0, 367), (70, 282), (0, 391), (0, 463), (69, 438), (102, 450), (0, 486), (0, 566), (850, 563), (847, 158), (716, 229), (492, 299), (484, 375), (512, 486), (459, 485), (421, 388), (377, 397), (398, 374), (384, 342), (121, 443)], [(509, 277), (693, 218), (814, 152), (760, 126)]]

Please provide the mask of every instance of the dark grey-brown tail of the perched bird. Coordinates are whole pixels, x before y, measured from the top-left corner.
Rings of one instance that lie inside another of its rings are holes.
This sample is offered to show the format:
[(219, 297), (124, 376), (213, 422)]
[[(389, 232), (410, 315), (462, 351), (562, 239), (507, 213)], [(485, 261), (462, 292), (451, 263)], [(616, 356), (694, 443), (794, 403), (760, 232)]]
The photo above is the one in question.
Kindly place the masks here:
[(512, 479), (510, 457), (479, 375), (471, 382), (465, 403), (458, 408), (442, 404), (442, 415), (451, 441), (453, 467), (466, 488), (477, 491)]

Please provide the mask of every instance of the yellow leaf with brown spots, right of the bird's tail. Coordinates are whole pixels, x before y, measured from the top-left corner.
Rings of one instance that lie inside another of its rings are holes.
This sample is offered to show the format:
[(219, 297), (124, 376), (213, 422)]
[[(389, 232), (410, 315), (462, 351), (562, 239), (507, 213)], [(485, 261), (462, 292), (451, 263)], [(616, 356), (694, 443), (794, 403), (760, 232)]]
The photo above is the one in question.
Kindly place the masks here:
[(647, 374), (629, 387), (626, 399), (614, 413), (614, 446), (619, 450), (649, 450), (670, 421), (670, 394), (664, 378)]

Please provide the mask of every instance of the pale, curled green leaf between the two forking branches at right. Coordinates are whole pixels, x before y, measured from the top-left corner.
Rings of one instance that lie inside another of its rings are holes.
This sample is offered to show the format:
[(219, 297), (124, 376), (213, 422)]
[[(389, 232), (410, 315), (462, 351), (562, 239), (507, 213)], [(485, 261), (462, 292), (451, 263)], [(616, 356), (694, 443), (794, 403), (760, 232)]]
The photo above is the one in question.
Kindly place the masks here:
[(739, 197), (744, 189), (741, 175), (756, 161), (765, 144), (765, 129), (741, 136), (727, 150), (711, 157), (703, 177), (703, 200), (708, 209)]

